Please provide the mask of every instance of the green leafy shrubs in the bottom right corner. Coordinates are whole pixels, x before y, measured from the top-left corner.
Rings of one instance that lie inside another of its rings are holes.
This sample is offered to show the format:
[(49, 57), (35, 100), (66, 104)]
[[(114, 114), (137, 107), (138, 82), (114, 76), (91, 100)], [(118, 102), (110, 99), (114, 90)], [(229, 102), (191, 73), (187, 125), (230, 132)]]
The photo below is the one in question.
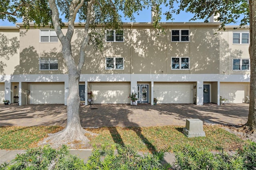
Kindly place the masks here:
[(174, 150), (174, 167), (180, 170), (256, 170), (256, 143), (249, 142), (236, 154), (212, 154), (205, 148), (185, 146)]

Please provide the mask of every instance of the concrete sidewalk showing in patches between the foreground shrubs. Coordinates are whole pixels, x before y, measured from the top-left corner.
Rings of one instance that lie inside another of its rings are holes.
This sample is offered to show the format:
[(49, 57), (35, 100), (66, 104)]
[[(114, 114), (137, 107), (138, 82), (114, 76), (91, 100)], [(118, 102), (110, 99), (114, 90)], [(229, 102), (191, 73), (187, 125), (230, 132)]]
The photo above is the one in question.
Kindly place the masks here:
[[(4, 162), (10, 162), (15, 158), (17, 154), (25, 153), (26, 150), (0, 150), (0, 164)], [(88, 160), (88, 157), (91, 155), (92, 150), (91, 149), (82, 149), (82, 150), (70, 150), (70, 154), (77, 155), (79, 158), (83, 159), (84, 162)], [(139, 152), (139, 154), (143, 155), (142, 152)], [(174, 163), (174, 154), (173, 153), (166, 153), (166, 156), (164, 157), (164, 162), (170, 163), (173, 165)]]

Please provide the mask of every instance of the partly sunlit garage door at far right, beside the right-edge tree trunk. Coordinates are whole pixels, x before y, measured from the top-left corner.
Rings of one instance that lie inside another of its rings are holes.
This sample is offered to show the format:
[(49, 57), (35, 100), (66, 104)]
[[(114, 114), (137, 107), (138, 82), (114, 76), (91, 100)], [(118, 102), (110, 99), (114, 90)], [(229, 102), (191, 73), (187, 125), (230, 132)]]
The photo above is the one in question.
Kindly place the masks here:
[(243, 103), (249, 93), (249, 83), (220, 83), (220, 96), (228, 99), (226, 103)]

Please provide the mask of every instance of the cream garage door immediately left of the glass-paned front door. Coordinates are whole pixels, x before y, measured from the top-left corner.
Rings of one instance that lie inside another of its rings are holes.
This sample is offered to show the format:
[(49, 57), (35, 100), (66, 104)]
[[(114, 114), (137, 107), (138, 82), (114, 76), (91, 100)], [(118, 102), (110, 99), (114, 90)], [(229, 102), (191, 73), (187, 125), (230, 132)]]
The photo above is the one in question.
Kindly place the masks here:
[(95, 104), (103, 103), (130, 103), (129, 84), (94, 84), (92, 85), (93, 100)]

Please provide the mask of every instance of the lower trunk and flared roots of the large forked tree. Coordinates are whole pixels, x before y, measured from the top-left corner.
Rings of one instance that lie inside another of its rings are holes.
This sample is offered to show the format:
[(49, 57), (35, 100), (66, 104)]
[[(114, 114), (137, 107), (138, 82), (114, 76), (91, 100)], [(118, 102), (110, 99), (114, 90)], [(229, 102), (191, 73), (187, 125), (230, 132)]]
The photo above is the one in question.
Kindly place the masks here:
[(50, 144), (54, 148), (59, 148), (66, 144), (70, 148), (86, 148), (90, 140), (85, 133), (93, 134), (84, 130), (80, 124), (80, 97), (79, 97), (79, 79), (80, 73), (75, 69), (69, 69), (69, 95), (67, 103), (67, 126), (62, 131), (49, 134), (39, 145)]

